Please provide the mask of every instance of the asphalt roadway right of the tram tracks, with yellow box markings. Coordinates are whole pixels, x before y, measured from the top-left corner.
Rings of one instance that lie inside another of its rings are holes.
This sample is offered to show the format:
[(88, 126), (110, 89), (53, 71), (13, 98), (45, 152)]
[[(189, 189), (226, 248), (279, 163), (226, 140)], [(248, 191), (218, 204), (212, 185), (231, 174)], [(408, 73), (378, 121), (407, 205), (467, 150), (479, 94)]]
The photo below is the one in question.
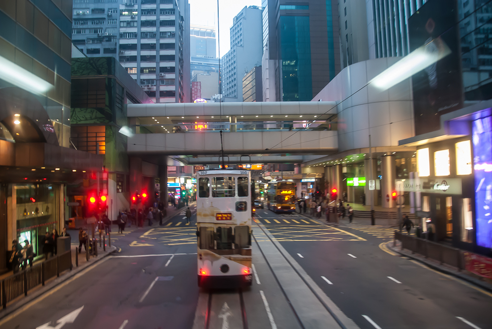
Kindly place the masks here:
[(391, 229), (337, 230), (266, 209), (257, 221), (360, 328), (492, 328), (492, 294), (382, 250)]

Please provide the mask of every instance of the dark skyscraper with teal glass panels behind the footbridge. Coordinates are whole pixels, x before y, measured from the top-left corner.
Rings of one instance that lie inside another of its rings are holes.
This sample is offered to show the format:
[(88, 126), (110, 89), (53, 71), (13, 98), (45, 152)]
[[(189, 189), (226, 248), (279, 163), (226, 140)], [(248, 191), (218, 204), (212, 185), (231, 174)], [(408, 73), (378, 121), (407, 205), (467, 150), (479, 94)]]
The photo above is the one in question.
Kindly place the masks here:
[(268, 80), (264, 98), (311, 100), (340, 71), (337, 3), (263, 0), (262, 4), (263, 48), (268, 52), (262, 60), (262, 76)]

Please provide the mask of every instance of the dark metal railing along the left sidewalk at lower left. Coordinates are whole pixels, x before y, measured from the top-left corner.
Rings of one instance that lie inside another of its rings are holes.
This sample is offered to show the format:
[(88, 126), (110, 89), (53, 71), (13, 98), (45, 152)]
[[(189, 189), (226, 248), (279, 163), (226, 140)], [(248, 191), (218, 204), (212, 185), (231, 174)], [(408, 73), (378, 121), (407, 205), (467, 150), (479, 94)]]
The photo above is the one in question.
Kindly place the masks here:
[(60, 276), (60, 273), (67, 269), (72, 269), (71, 250), (4, 278), (0, 281), (2, 307), (6, 308), (9, 301), (23, 294), (28, 296), (29, 290), (40, 284), (44, 286), (46, 280)]

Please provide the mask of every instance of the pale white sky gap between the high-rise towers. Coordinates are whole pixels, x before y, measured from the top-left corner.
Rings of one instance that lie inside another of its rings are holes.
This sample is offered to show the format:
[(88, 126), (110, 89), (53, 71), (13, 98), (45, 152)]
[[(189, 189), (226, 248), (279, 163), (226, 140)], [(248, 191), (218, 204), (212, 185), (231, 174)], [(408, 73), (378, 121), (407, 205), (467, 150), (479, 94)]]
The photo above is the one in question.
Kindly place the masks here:
[[(215, 27), (217, 30), (217, 0), (188, 0), (190, 6), (190, 24)], [(229, 29), (232, 27), (233, 18), (239, 14), (245, 6), (261, 6), (261, 0), (218, 0), (220, 16), (220, 55), (217, 49), (217, 57), (224, 56), (230, 46)], [(215, 35), (219, 36), (218, 33)], [(217, 41), (218, 48), (218, 41)]]

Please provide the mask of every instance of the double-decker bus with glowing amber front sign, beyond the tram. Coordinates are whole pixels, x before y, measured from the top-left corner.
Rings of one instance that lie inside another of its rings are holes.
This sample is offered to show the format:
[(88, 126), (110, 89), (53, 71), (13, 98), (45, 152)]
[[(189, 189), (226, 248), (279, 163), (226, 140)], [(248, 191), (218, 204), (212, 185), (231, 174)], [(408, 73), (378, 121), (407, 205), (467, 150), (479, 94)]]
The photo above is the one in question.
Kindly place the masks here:
[(289, 180), (268, 183), (267, 207), (274, 212), (295, 212), (296, 184)]

